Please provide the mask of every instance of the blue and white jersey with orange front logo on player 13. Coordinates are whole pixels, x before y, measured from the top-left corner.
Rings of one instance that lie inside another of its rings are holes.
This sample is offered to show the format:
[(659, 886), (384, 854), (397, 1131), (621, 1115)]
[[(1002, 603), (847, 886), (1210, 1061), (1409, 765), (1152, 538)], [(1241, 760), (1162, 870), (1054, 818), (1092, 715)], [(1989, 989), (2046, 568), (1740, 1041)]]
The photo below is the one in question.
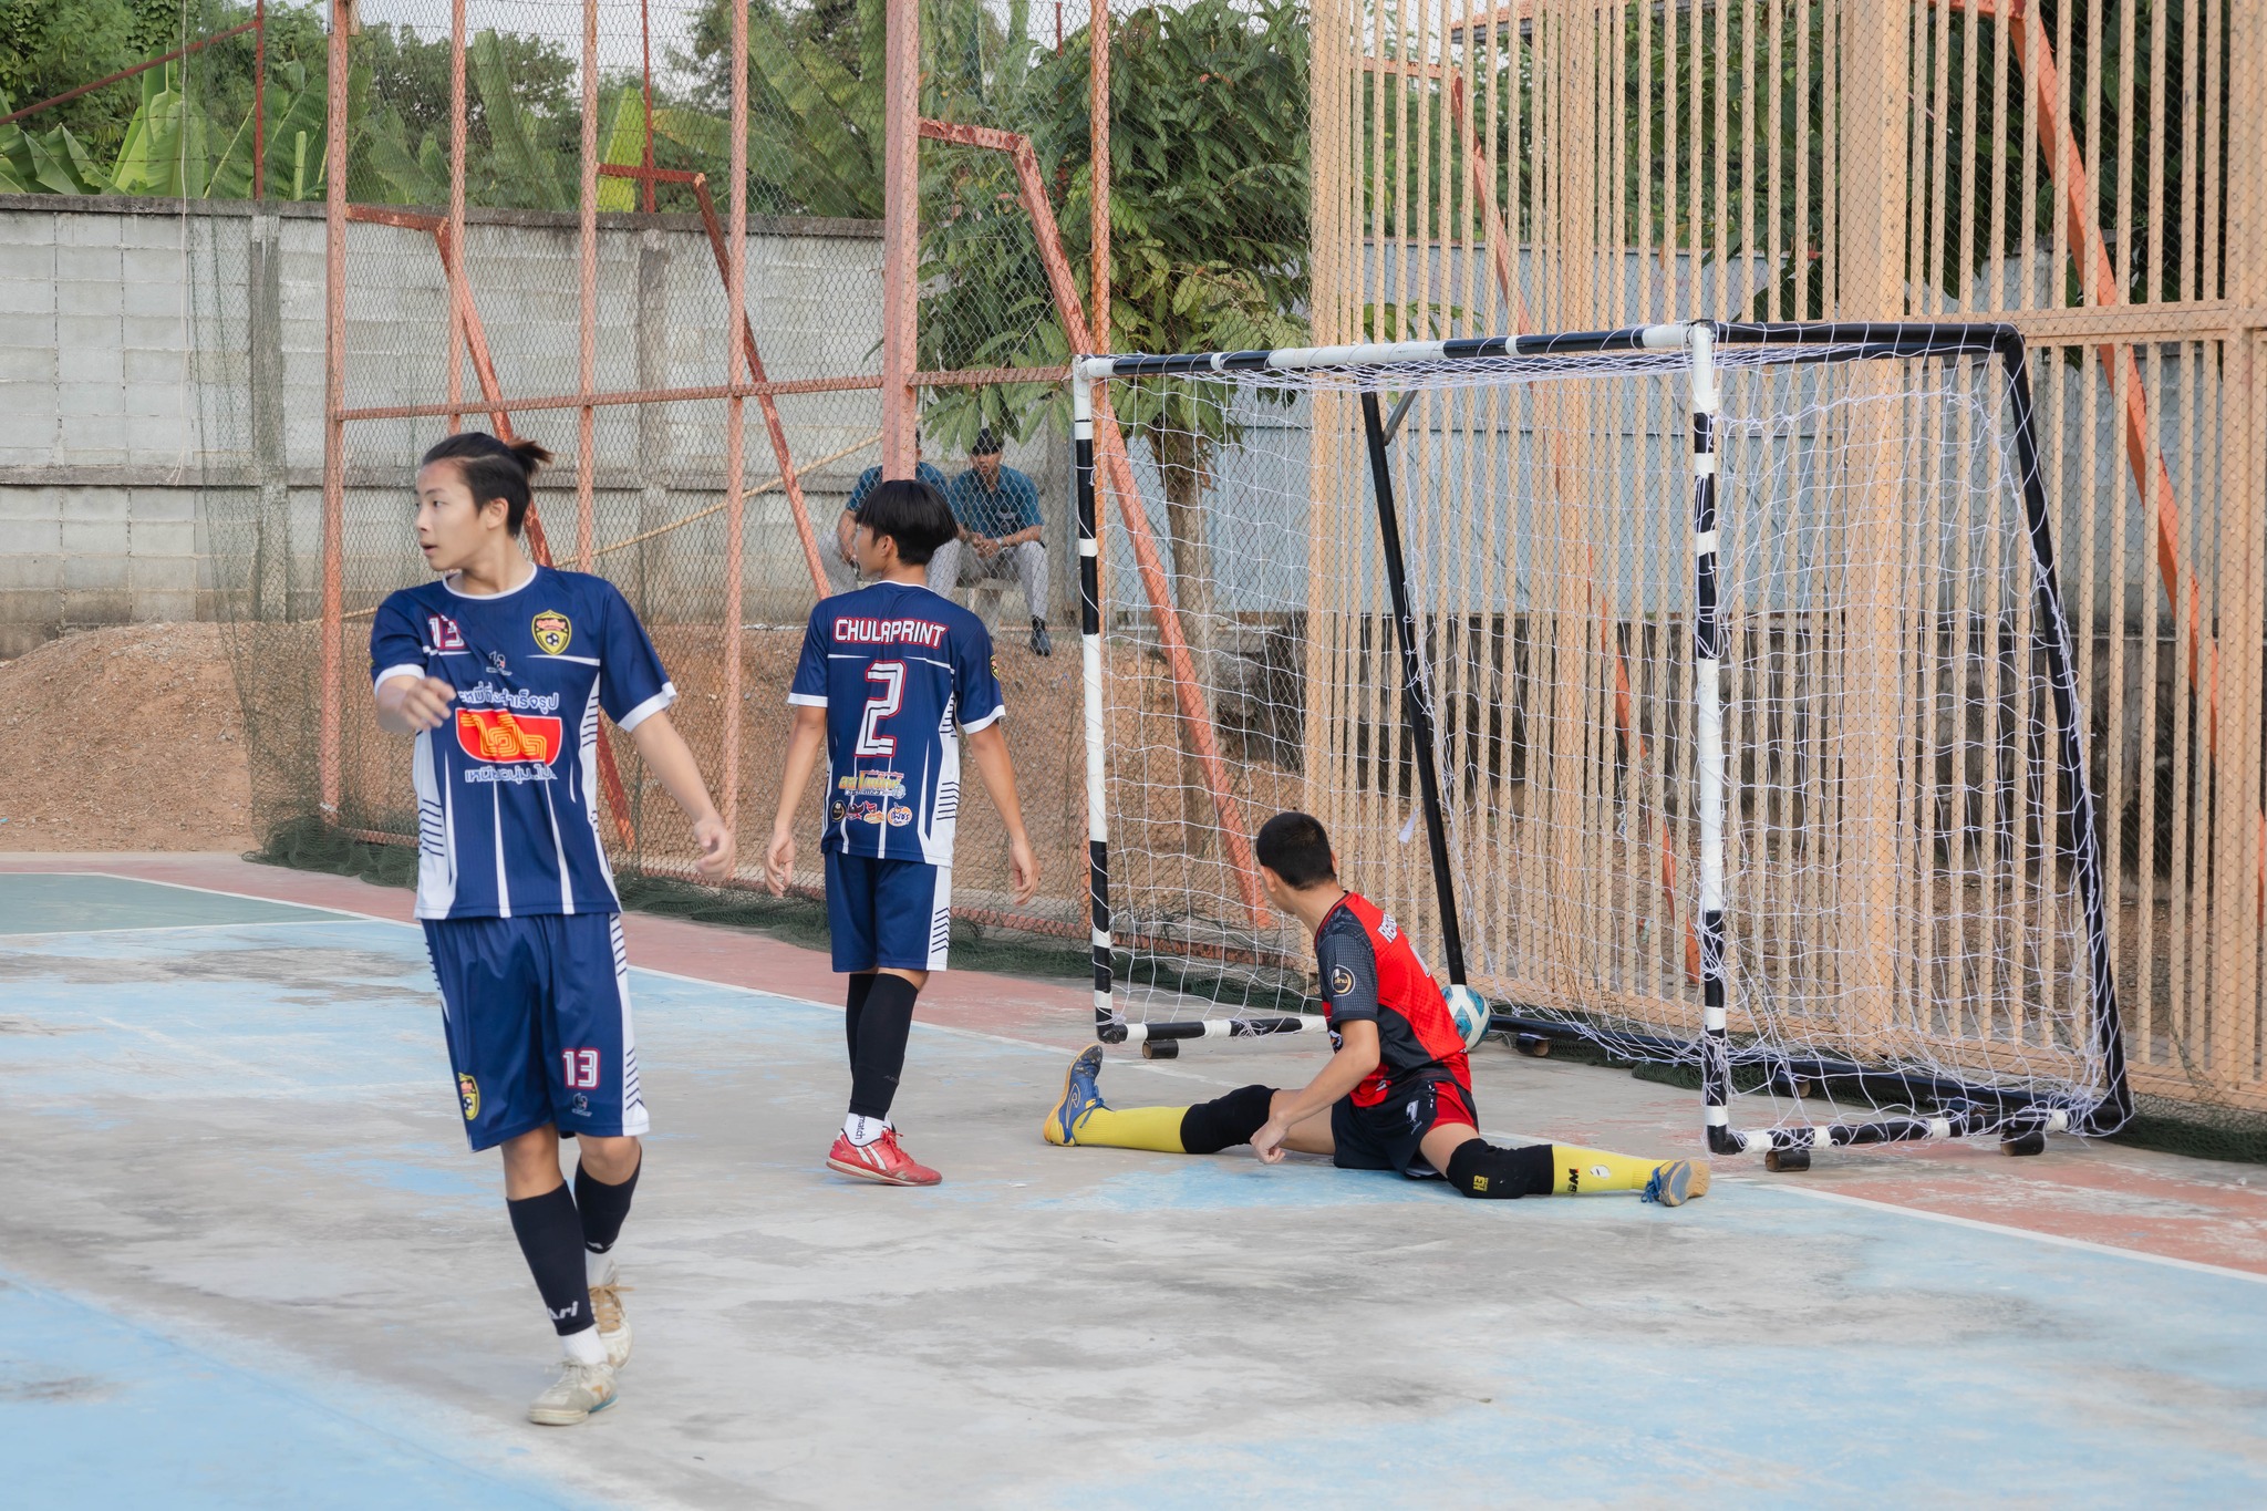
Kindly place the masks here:
[(619, 913), (598, 843), (598, 709), (635, 729), (678, 698), (605, 578), (537, 566), (508, 594), (406, 587), (370, 625), (372, 686), (440, 677), (417, 736), (417, 917)]

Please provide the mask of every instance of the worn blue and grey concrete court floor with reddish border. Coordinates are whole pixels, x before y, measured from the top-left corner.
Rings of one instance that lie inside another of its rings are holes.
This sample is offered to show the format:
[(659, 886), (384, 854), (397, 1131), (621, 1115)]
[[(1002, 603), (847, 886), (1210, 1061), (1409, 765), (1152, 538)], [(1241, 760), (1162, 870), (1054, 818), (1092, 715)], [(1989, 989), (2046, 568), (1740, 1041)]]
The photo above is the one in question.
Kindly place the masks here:
[[(2253, 1169), (1721, 1164), (1664, 1212), (1056, 1151), (1079, 992), (963, 974), (898, 1108), (948, 1185), (871, 1189), (821, 1169), (825, 961), (639, 915), (637, 1359), (612, 1411), (537, 1429), (553, 1348), (406, 895), (234, 859), (0, 872), (29, 872), (0, 874), (0, 1502), (2267, 1497)], [(1113, 1060), (1104, 1090), (1315, 1060)], [(1689, 1094), (1612, 1072), (1492, 1049), (1478, 1094), (1492, 1133), (1693, 1142)]]

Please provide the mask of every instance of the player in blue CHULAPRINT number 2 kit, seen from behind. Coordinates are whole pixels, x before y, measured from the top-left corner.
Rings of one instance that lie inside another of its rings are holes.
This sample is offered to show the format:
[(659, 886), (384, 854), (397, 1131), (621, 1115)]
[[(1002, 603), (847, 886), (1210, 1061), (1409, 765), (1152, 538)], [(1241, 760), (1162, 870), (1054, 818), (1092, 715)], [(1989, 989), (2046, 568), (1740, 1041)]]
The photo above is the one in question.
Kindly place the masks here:
[(827, 1167), (882, 1185), (936, 1185), (941, 1176), (898, 1144), (889, 1121), (914, 999), (952, 942), (952, 820), (961, 806), (961, 739), (1007, 827), (1016, 902), (1038, 890), (1038, 861), (1022, 831), (1016, 772), (1000, 718), (984, 621), (925, 587), (939, 546), (959, 526), (943, 496), (918, 480), (889, 480), (859, 503), (859, 571), (880, 578), (812, 609), (796, 666), (793, 734), (780, 772), (764, 874), (773, 895), (796, 865), (796, 806), (827, 752), (827, 927), (834, 970), (850, 976), (850, 1112)]

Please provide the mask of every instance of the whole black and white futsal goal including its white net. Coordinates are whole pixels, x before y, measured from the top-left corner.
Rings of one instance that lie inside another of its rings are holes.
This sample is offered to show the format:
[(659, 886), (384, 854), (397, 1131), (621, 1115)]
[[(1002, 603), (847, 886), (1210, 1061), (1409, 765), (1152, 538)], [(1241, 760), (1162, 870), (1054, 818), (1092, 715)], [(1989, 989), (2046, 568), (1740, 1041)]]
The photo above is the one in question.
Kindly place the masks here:
[(1716, 1153), (2131, 1115), (2013, 328), (1070, 383), (1102, 1040), (1322, 1026), (1251, 854), (1306, 809), (1496, 1033), (1682, 1067)]

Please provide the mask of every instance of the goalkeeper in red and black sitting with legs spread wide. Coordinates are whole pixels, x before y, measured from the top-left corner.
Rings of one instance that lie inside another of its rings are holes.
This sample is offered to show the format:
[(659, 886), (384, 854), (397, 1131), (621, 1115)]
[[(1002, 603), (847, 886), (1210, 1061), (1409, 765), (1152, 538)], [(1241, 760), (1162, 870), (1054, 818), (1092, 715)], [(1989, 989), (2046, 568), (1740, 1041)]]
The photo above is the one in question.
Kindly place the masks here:
[(1070, 1062), (1047, 1115), (1050, 1144), (1217, 1153), (1233, 1144), (1274, 1164), (1285, 1149), (1340, 1169), (1444, 1176), (1464, 1196), (1644, 1192), (1675, 1207), (1707, 1192), (1700, 1160), (1632, 1160), (1573, 1144), (1503, 1149), (1480, 1137), (1464, 1040), (1449, 1004), (1392, 915), (1338, 883), (1338, 856), (1308, 813), (1258, 834), (1267, 899), (1315, 931), (1315, 967), (1335, 1053), (1297, 1092), (1247, 1085), (1195, 1108), (1111, 1108), (1095, 1078), (1102, 1047)]

